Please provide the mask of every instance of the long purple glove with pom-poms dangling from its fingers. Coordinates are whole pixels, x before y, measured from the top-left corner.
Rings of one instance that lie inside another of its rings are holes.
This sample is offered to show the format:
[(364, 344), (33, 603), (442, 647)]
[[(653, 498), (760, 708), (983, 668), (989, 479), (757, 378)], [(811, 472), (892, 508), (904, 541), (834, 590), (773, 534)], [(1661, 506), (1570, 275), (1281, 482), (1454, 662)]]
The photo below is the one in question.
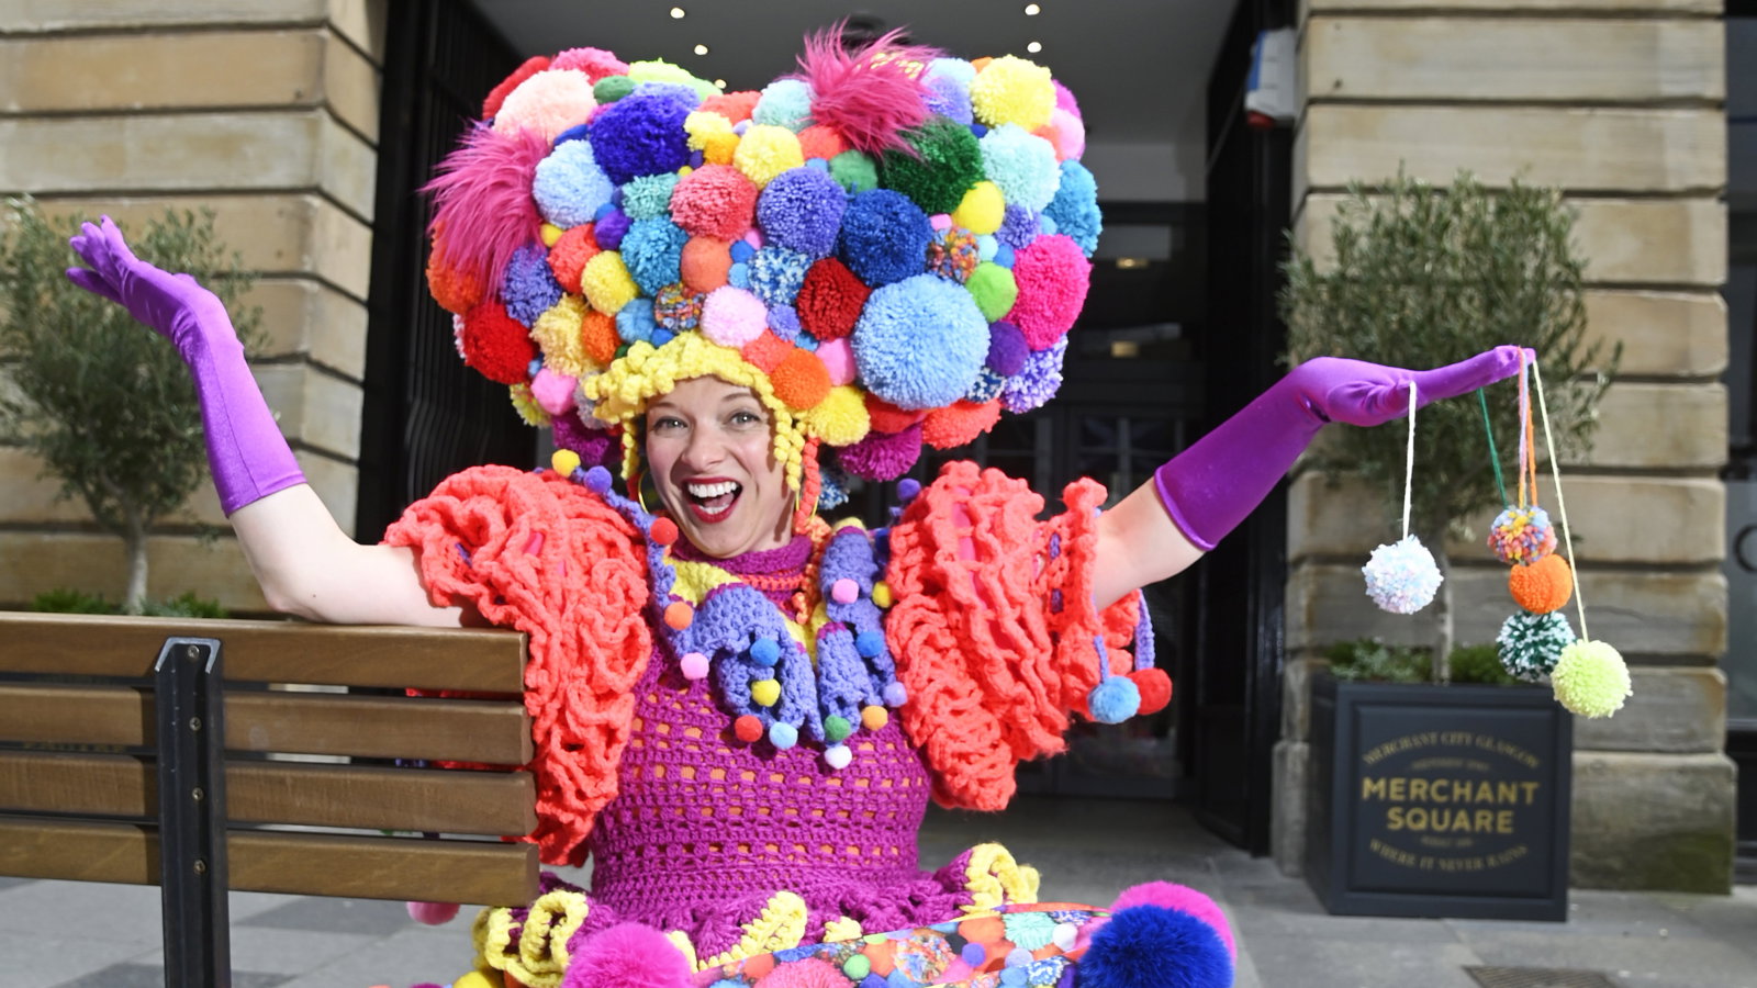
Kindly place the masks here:
[[(1530, 350), (1525, 359), (1534, 359)], [(1518, 346), (1495, 346), (1432, 371), (1318, 357), (1293, 367), (1256, 401), (1172, 457), (1153, 482), (1172, 522), (1207, 552), (1269, 496), (1325, 422), (1381, 425), (1409, 413), (1409, 381), (1416, 381), (1416, 406), (1423, 406), (1518, 371)]]

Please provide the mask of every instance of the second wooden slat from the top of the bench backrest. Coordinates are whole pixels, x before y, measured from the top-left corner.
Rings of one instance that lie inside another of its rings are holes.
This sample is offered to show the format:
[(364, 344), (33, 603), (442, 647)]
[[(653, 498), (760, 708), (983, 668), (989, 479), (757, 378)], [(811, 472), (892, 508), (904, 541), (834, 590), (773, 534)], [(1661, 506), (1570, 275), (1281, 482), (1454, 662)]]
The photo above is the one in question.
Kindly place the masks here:
[[(0, 682), (0, 740), (155, 744), (151, 691), (134, 686)], [(227, 691), (228, 751), (524, 765), (531, 717), (513, 700)]]

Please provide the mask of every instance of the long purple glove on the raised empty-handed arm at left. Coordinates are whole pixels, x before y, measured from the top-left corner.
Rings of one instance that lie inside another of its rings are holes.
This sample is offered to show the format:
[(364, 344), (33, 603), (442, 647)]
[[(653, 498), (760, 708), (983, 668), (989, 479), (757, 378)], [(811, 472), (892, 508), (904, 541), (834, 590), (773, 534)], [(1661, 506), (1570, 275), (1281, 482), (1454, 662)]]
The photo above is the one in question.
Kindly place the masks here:
[(227, 515), (276, 490), (304, 483), (293, 452), (244, 364), (244, 345), (225, 304), (188, 274), (169, 274), (134, 257), (109, 216), (69, 241), (90, 269), (70, 267), (74, 285), (128, 309), (176, 345), (195, 378), (207, 466)]

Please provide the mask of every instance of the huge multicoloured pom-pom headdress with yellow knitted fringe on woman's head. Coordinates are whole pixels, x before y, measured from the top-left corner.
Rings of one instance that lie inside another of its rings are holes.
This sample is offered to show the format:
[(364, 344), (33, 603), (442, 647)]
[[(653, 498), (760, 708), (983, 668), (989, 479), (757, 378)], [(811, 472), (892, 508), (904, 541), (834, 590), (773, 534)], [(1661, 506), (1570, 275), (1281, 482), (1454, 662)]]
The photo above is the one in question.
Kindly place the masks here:
[(835, 496), (1059, 387), (1102, 223), (1047, 69), (831, 32), (720, 93), (573, 49), (485, 111), (427, 186), (429, 285), (564, 448), (617, 443), (631, 476), (647, 403), (713, 374), (770, 410), (792, 489)]

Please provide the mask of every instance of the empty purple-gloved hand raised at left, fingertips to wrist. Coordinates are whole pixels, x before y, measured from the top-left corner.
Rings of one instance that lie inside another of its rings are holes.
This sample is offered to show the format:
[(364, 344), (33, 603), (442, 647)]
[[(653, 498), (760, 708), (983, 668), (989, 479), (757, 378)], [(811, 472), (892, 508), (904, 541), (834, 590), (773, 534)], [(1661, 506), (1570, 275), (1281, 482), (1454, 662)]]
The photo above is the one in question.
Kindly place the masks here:
[(109, 216), (83, 223), (69, 244), (90, 267), (69, 267), (67, 278), (125, 309), (170, 339), (186, 362), (214, 343), (237, 341), (218, 295), (188, 274), (170, 274), (141, 260)]

